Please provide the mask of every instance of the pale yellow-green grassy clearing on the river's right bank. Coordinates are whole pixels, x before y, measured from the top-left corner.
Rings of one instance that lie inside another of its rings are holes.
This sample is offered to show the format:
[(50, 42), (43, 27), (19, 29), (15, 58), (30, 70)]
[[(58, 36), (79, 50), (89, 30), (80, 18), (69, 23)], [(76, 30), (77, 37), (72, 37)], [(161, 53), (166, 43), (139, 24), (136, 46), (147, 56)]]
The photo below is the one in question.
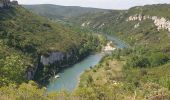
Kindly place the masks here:
[(124, 61), (118, 61), (110, 56), (103, 58), (102, 62), (81, 75), (79, 87), (89, 87), (92, 84), (96, 86), (119, 84), (123, 63)]

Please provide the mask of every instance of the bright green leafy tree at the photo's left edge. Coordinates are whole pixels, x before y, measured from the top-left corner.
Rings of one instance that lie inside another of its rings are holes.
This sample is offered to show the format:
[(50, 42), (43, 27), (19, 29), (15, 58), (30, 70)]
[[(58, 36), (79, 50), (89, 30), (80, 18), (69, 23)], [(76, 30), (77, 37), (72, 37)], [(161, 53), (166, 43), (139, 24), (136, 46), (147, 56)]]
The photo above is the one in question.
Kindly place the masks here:
[(7, 56), (1, 61), (3, 62), (3, 66), (0, 68), (1, 85), (5, 85), (10, 82), (21, 82), (24, 80), (25, 65), (21, 56), (14, 54)]

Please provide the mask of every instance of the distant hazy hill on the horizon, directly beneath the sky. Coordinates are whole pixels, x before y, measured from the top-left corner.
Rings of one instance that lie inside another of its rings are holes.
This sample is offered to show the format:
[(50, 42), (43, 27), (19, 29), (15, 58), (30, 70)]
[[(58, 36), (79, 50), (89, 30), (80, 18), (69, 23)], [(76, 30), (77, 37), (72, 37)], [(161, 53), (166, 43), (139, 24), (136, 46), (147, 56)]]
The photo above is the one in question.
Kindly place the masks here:
[(59, 6), (59, 5), (23, 5), (28, 10), (31, 10), (41, 16), (53, 20), (68, 20), (72, 17), (77, 17), (87, 13), (107, 12), (105, 9), (84, 8), (77, 6)]

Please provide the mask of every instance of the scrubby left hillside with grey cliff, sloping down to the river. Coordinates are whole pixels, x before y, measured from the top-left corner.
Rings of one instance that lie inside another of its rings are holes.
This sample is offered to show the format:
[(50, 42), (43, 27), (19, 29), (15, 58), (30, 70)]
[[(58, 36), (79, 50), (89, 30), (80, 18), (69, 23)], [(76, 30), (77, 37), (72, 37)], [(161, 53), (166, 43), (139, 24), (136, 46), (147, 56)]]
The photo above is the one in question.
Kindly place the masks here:
[(20, 6), (0, 8), (0, 23), (0, 86), (27, 79), (41, 83), (100, 48), (97, 36), (52, 23)]

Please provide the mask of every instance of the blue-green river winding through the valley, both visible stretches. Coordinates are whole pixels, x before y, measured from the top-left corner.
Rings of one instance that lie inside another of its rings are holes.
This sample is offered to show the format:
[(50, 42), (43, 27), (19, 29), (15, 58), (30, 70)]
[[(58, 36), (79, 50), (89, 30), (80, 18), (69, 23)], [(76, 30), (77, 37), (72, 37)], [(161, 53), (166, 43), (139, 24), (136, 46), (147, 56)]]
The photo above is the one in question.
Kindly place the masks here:
[[(117, 48), (127, 47), (127, 45), (117, 37), (109, 35), (106, 35), (106, 37), (108, 40), (113, 41), (116, 44)], [(66, 69), (61, 70), (58, 73), (60, 78), (57, 79), (52, 78), (50, 83), (47, 85), (47, 91), (48, 92), (60, 90), (73, 91), (78, 85), (81, 73), (89, 69), (91, 66), (95, 66), (96, 64), (98, 64), (102, 57), (103, 54), (101, 53), (89, 55), (81, 62), (78, 62)]]

